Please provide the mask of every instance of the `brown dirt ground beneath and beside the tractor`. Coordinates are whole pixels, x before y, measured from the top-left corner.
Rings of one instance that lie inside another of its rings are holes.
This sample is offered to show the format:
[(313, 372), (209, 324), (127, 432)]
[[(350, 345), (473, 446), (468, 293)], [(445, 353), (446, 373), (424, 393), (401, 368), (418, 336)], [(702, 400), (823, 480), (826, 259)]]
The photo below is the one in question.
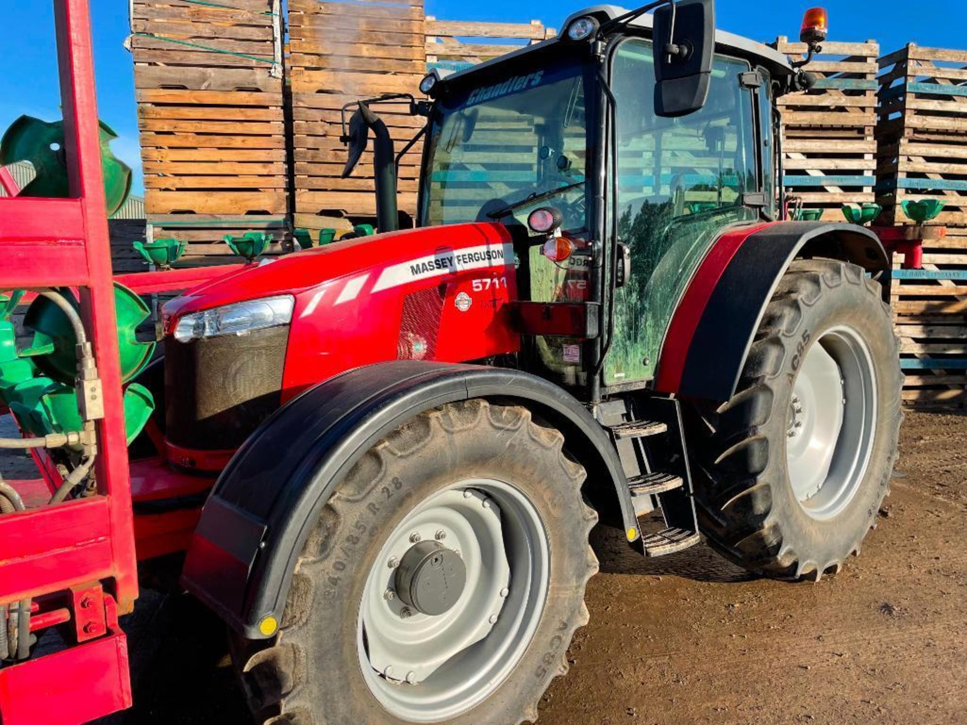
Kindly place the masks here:
[[(591, 623), (541, 725), (967, 722), (965, 442), (965, 417), (908, 414), (877, 530), (818, 584), (705, 546), (645, 560), (597, 531)], [(105, 723), (248, 722), (200, 605), (146, 590), (124, 627), (138, 705)]]

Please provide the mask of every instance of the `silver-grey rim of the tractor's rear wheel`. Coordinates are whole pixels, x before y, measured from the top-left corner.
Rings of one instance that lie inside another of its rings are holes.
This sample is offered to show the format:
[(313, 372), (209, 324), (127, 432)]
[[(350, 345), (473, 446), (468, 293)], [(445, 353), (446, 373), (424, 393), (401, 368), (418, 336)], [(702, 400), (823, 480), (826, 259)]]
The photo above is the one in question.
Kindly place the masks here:
[(811, 518), (835, 518), (859, 490), (872, 454), (876, 373), (863, 336), (840, 325), (806, 350), (786, 437), (789, 482)]

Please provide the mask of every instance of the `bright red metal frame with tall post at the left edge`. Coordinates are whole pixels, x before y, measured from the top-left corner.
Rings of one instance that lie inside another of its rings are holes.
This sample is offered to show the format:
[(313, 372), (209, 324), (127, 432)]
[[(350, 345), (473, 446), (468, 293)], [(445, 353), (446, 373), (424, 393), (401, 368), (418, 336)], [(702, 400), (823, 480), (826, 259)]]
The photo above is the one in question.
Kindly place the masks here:
[[(103, 382), (98, 495), (0, 517), (0, 603), (86, 593), (88, 606), (69, 597), (68, 608), (75, 622), (83, 619), (90, 641), (0, 669), (4, 725), (38, 722), (40, 712), (45, 723), (84, 722), (132, 699), (127, 642), (117, 625), (117, 612), (130, 611), (137, 597), (132, 490), (88, 0), (54, 0), (54, 20), (71, 198), (0, 198), (0, 289), (79, 289)], [(102, 586), (110, 594), (91, 598)]]

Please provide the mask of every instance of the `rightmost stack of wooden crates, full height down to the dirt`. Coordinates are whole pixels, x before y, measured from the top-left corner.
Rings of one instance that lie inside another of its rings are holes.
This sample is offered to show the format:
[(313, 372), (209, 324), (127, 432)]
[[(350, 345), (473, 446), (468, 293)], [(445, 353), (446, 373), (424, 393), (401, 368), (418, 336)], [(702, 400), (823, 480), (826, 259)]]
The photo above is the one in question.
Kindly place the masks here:
[(923, 270), (894, 272), (894, 309), (917, 407), (967, 403), (967, 51), (909, 44), (880, 59), (877, 201), (911, 224), (904, 200), (941, 199), (928, 222), (946, 236), (923, 245)]

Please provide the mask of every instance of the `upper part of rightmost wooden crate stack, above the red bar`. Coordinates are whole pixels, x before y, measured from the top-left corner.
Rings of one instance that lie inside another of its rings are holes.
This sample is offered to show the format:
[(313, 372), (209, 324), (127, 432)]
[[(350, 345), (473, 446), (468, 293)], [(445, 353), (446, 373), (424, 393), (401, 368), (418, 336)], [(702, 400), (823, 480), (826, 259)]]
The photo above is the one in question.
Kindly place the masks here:
[(906, 199), (939, 198), (933, 223), (967, 226), (967, 51), (910, 43), (880, 58), (877, 200), (909, 223)]

